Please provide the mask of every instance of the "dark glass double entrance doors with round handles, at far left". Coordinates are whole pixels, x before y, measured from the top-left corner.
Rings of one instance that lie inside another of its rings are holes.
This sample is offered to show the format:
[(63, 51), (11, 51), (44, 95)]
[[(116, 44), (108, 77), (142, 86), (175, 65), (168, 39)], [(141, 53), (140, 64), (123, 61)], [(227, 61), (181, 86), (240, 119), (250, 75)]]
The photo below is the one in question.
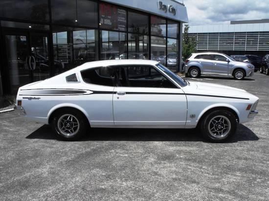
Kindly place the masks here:
[(8, 93), (19, 87), (49, 77), (48, 36), (30, 31), (4, 31)]

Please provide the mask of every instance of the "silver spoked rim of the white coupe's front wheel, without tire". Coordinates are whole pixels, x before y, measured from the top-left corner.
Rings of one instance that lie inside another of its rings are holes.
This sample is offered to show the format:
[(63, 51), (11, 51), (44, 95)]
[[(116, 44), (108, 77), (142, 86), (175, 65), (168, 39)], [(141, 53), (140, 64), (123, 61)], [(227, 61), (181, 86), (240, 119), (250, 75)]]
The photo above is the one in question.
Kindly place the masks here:
[(215, 138), (223, 138), (229, 134), (231, 122), (225, 116), (219, 115), (213, 117), (208, 124), (208, 131)]

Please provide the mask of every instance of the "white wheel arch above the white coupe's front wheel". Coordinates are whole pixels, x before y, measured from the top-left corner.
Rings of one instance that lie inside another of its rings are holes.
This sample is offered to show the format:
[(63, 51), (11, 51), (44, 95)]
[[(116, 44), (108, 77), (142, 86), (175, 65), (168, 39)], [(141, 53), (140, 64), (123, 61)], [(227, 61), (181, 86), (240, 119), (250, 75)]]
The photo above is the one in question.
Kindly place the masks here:
[(199, 125), (199, 123), (202, 121), (202, 119), (207, 115), (209, 114), (210, 112), (212, 111), (215, 111), (215, 110), (228, 110), (230, 111), (232, 114), (234, 114), (235, 118), (236, 118), (236, 121), (239, 123), (240, 122), (240, 112), (232, 105), (229, 105), (229, 104), (224, 104), (224, 105), (220, 105), (220, 104), (216, 104), (216, 105), (211, 105), (209, 107), (206, 107), (204, 110), (202, 110), (202, 112), (200, 113), (197, 121), (197, 126)]

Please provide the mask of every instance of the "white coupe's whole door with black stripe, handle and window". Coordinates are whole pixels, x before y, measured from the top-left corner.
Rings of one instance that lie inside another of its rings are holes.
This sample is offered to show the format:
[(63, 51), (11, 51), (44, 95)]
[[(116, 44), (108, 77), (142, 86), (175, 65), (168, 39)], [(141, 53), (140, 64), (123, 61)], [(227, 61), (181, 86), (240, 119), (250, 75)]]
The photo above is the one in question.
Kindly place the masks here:
[(113, 94), (115, 126), (184, 127), (184, 92), (153, 66), (122, 66)]

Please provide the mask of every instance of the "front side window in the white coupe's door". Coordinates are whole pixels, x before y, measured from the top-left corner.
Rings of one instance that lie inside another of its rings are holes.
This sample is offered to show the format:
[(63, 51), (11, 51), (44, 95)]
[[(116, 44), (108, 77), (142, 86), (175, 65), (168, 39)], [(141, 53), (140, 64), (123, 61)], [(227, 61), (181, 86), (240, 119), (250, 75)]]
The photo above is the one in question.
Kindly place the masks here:
[(117, 67), (121, 77), (117, 85), (124, 87), (178, 88), (153, 66), (130, 65)]

